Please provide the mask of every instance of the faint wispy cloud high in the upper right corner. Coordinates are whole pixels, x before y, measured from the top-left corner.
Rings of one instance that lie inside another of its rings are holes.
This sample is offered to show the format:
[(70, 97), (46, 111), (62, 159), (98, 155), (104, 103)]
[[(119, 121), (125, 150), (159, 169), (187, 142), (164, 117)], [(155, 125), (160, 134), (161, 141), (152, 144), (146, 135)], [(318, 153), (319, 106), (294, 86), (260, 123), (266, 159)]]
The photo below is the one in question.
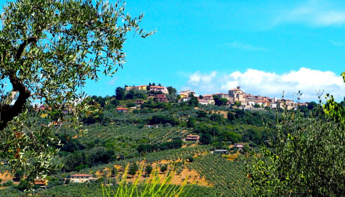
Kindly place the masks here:
[(302, 22), (314, 26), (341, 25), (345, 23), (345, 9), (341, 10), (329, 3), (311, 0), (302, 6), (282, 12), (275, 22)]

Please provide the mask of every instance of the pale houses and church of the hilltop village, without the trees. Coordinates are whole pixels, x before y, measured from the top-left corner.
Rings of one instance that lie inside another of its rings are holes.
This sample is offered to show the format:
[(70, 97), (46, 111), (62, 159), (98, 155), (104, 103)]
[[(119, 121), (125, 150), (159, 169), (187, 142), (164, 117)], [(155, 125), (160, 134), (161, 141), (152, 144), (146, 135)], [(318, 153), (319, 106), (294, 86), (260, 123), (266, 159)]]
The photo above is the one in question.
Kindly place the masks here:
[[(146, 85), (142, 86), (131, 86), (126, 87), (125, 90), (147, 90)], [(158, 102), (167, 102), (168, 99), (166, 97), (166, 94), (168, 94), (168, 89), (164, 86), (150, 86), (149, 91), (161, 91), (163, 94), (158, 94), (155, 96), (156, 101)], [(188, 101), (190, 99), (190, 95), (193, 94), (194, 96), (198, 97), (195, 94), (194, 90), (185, 90), (180, 92), (180, 101)], [(293, 100), (290, 99), (277, 99), (277, 97), (269, 98), (265, 96), (255, 96), (252, 94), (245, 93), (241, 90), (240, 86), (237, 86), (236, 88), (230, 89), (228, 93), (216, 93), (216, 94), (208, 94), (208, 95), (202, 95), (203, 98), (198, 98), (198, 101), (200, 104), (203, 105), (214, 105), (215, 101), (213, 96), (217, 95), (219, 98), (225, 98), (228, 100), (228, 104), (234, 104), (236, 101), (239, 102), (241, 106), (243, 106), (245, 109), (254, 108), (255, 104), (258, 104), (262, 108), (286, 108), (288, 110), (290, 109), (296, 109), (298, 105), (294, 103)], [(136, 101), (137, 104), (141, 104), (141, 100)], [(299, 106), (307, 106), (307, 103), (299, 103)]]

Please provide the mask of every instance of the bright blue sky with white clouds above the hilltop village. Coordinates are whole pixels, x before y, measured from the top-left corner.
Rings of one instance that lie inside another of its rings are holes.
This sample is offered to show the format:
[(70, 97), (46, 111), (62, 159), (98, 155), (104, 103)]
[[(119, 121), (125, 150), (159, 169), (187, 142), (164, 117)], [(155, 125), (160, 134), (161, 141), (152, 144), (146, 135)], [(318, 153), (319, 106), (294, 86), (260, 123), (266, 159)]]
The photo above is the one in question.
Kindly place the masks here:
[(239, 85), (270, 97), (301, 90), (302, 101), (323, 89), (345, 96), (345, 1), (127, 0), (126, 12), (144, 12), (141, 27), (157, 33), (128, 34), (124, 68), (88, 83), (89, 95), (155, 82), (197, 94)]

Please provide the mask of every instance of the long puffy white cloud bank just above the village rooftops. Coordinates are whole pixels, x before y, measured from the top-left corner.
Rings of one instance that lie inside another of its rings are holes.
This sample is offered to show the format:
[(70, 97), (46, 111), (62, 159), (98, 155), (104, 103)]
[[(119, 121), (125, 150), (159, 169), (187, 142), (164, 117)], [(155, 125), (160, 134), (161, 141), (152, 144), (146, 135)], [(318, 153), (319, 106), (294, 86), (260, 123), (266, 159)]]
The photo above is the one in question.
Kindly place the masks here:
[(345, 84), (340, 74), (309, 68), (291, 70), (282, 75), (256, 69), (247, 69), (243, 73), (236, 71), (223, 77), (217, 76), (216, 72), (196, 72), (190, 76), (186, 87), (196, 90), (197, 94), (213, 94), (227, 92), (236, 86), (241, 86), (246, 93), (269, 97), (281, 97), (285, 91), (285, 98), (293, 98), (294, 92), (300, 90), (302, 101), (316, 101), (316, 91), (319, 90), (332, 94), (336, 100), (343, 100), (345, 96)]

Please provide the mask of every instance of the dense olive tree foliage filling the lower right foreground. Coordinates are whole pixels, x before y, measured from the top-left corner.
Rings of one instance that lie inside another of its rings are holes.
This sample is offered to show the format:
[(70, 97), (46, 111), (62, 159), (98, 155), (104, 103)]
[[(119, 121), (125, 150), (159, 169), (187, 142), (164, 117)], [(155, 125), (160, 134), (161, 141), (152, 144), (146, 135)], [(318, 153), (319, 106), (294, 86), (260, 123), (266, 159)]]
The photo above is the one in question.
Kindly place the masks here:
[(277, 138), (246, 161), (252, 196), (344, 196), (344, 108), (332, 96), (315, 108), (307, 118), (283, 112)]

